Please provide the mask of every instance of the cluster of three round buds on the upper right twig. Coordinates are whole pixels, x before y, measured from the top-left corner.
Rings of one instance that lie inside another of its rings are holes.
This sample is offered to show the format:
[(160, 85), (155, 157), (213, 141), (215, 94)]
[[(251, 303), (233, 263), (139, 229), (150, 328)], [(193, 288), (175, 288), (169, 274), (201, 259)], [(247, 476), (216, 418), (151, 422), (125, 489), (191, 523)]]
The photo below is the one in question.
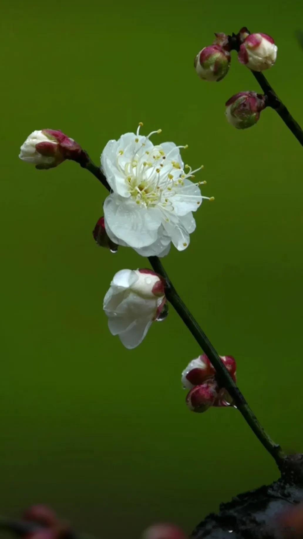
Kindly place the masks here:
[[(238, 34), (227, 36), (215, 33), (212, 45), (204, 47), (195, 58), (199, 77), (208, 81), (220, 81), (230, 68), (232, 50), (238, 51), (238, 60), (252, 71), (264, 71), (274, 65), (278, 47), (265, 33), (250, 33), (243, 27)], [(256, 92), (239, 92), (226, 102), (226, 119), (237, 129), (253, 126), (260, 112), (267, 106), (266, 96)]]

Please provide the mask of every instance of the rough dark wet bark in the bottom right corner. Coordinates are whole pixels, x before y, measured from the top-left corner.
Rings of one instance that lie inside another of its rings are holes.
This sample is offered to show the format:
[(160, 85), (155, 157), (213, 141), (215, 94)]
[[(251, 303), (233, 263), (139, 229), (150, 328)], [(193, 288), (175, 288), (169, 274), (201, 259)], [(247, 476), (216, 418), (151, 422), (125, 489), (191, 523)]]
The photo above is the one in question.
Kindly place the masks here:
[(210, 514), (198, 524), (191, 539), (299, 537), (299, 530), (295, 530), (295, 526), (285, 526), (283, 517), (302, 501), (303, 455), (293, 455), (285, 460), (278, 481), (222, 503), (218, 514)]

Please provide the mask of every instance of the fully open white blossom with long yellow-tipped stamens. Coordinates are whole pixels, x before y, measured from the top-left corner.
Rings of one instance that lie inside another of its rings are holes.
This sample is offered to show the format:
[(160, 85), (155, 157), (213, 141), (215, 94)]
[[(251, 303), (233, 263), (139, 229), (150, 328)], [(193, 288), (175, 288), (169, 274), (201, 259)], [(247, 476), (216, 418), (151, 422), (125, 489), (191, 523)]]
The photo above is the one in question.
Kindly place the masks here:
[[(101, 155), (101, 167), (112, 193), (104, 203), (105, 227), (114, 243), (133, 247), (144, 257), (164, 256), (172, 241), (179, 251), (189, 244), (196, 223), (192, 212), (203, 198), (192, 183), (195, 170), (184, 164), (174, 142), (158, 146), (150, 136), (126, 133), (110, 140)], [(197, 170), (200, 170), (200, 167)], [(212, 198), (211, 198), (212, 199)]]

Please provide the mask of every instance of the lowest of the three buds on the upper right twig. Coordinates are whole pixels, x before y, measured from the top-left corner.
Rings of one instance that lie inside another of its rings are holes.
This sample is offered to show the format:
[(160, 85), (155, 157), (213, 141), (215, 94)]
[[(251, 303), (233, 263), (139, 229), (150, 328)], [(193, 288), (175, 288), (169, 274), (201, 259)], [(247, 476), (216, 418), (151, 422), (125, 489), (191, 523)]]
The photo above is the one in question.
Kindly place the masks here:
[(225, 103), (226, 119), (237, 129), (254, 126), (265, 108), (265, 96), (256, 92), (239, 92)]

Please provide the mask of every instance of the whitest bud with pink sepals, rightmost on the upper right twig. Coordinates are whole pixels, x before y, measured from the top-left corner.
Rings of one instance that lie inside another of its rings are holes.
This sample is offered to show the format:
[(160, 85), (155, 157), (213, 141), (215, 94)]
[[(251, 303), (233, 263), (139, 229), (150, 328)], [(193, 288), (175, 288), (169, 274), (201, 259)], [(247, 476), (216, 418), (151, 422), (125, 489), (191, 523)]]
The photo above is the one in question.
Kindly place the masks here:
[(243, 40), (240, 45), (238, 59), (253, 71), (264, 71), (276, 62), (278, 47), (272, 37), (264, 33), (248, 34), (240, 33)]

